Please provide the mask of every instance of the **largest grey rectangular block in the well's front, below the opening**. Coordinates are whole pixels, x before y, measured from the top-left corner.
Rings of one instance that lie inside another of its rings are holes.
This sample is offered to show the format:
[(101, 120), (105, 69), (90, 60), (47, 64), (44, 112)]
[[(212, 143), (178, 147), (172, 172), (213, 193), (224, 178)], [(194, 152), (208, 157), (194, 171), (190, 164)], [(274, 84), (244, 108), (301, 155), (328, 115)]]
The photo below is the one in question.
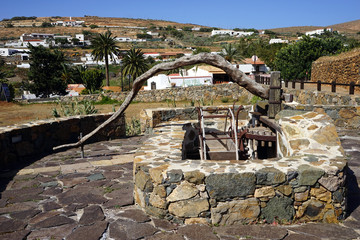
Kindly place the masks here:
[(254, 173), (210, 174), (206, 179), (206, 190), (211, 198), (223, 200), (254, 194)]

